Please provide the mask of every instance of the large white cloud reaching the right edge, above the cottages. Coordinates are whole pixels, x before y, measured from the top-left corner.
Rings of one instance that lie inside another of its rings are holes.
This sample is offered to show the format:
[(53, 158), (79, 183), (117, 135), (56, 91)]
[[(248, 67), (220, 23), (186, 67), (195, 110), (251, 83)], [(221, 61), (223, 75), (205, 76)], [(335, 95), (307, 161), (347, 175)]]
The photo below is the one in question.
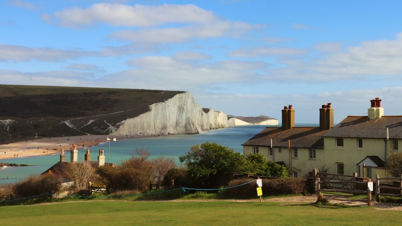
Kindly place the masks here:
[(267, 79), (309, 82), (402, 79), (402, 33), (394, 40), (366, 41), (346, 51), (339, 51), (337, 45), (326, 45), (325, 50), (332, 49), (332, 54), (326, 52), (321, 58), (286, 59), (281, 62), (286, 66), (272, 69)]

